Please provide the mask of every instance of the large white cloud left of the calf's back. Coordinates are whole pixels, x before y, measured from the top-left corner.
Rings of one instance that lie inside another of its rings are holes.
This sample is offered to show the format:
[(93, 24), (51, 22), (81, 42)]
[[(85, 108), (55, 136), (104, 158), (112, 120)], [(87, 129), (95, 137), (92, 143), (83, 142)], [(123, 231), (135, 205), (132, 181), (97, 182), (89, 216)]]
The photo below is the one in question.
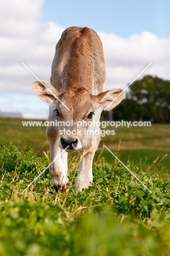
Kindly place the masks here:
[(33, 93), (36, 78), (50, 80), (55, 46), (64, 28), (40, 22), (42, 0), (7, 0), (0, 7), (1, 92)]

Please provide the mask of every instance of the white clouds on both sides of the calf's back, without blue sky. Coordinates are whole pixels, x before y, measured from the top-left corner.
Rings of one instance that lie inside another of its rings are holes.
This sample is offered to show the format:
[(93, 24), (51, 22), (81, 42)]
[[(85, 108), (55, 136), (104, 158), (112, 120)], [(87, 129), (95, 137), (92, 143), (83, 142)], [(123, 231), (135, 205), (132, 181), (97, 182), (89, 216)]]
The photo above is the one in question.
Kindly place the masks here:
[[(43, 3), (43, 0), (0, 3), (0, 110), (6, 106), (28, 115), (29, 108), (30, 114), (39, 113), (39, 107), (47, 109), (45, 103), (39, 100), (35, 103), (31, 84), (36, 78), (21, 64), (25, 63), (40, 79), (50, 81), (55, 46), (65, 28), (54, 22), (41, 22)], [(106, 60), (106, 89), (125, 88), (150, 62), (152, 65), (144, 74), (170, 79), (170, 38), (162, 39), (147, 31), (126, 39), (105, 32), (99, 32), (99, 36)], [(7, 93), (4, 104), (2, 98)], [(10, 93), (16, 95), (18, 104), (10, 100)], [(19, 95), (27, 100), (21, 101)]]

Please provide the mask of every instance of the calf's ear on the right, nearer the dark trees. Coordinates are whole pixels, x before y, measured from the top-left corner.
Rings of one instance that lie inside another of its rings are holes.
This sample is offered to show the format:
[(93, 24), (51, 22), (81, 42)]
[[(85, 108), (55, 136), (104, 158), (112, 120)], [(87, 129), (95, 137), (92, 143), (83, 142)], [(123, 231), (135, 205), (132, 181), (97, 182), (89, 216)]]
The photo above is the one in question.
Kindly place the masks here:
[(125, 96), (125, 92), (122, 89), (112, 89), (109, 91), (101, 92), (97, 95), (98, 102), (104, 110), (111, 110), (116, 107)]

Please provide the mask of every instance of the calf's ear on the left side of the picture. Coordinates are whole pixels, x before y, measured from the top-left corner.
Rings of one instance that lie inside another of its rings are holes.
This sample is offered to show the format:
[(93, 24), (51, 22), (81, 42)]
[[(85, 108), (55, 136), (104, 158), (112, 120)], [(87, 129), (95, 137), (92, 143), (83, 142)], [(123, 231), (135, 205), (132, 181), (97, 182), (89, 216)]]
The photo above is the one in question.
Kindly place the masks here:
[(61, 94), (56, 88), (46, 81), (34, 81), (32, 88), (41, 100), (48, 103), (56, 101), (57, 97)]

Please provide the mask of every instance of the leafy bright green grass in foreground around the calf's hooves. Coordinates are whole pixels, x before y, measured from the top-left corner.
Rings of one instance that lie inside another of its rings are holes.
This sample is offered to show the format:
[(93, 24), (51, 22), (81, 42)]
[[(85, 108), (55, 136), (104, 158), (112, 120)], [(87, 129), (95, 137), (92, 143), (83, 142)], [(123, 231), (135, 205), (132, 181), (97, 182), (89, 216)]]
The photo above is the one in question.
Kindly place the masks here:
[(170, 255), (170, 177), (162, 176), (163, 167), (155, 163), (150, 175), (127, 165), (149, 193), (122, 165), (100, 158), (92, 186), (77, 193), (78, 160), (75, 154), (69, 160), (66, 194), (54, 192), (48, 170), (22, 194), (49, 159), (1, 144), (0, 255)]

